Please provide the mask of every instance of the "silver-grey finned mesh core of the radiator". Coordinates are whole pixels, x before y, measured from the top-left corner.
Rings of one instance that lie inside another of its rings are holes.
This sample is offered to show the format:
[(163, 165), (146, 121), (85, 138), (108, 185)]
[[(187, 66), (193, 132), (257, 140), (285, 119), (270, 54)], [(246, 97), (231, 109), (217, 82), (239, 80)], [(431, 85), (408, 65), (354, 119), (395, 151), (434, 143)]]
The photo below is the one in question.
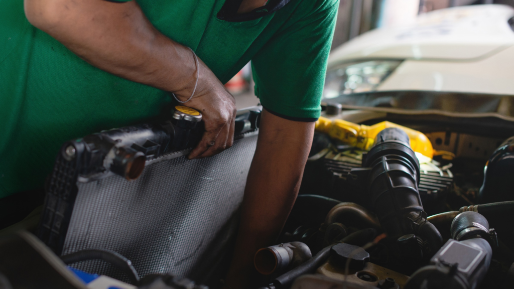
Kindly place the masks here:
[[(210, 158), (162, 157), (136, 180), (82, 179), (63, 254), (109, 249), (131, 260), (140, 276), (171, 272), (204, 282), (233, 248), (256, 140), (248, 134)], [(74, 267), (127, 280), (103, 261)]]

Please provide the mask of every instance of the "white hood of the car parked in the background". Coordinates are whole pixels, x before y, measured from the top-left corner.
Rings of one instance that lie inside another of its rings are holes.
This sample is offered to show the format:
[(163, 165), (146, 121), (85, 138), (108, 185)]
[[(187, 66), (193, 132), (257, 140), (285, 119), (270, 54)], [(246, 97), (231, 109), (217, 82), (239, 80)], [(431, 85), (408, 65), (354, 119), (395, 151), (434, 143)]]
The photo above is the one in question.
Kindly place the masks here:
[(471, 60), (514, 44), (514, 9), (474, 5), (421, 14), (409, 26), (375, 29), (336, 48), (329, 63), (355, 59)]

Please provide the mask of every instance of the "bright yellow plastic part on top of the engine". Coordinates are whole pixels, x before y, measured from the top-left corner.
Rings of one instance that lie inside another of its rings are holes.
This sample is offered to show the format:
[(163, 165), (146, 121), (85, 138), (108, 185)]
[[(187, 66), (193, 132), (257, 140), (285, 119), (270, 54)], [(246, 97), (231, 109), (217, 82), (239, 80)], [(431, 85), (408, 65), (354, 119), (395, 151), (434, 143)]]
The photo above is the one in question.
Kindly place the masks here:
[(382, 121), (370, 126), (342, 119), (330, 120), (324, 117), (320, 117), (318, 121), (316, 121), (317, 131), (324, 132), (332, 138), (339, 139), (348, 145), (366, 151), (370, 150), (373, 146), (377, 134), (387, 128), (398, 128), (406, 132), (411, 140), (411, 148), (414, 152), (430, 158), (434, 156), (432, 143), (426, 135), (396, 123)]

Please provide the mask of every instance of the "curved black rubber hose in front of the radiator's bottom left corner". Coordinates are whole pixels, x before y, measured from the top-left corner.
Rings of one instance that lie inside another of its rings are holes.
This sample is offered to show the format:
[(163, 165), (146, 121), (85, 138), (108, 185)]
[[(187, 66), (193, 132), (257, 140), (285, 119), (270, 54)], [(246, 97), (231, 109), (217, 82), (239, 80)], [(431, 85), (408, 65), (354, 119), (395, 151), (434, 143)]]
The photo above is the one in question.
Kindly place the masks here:
[(133, 284), (139, 282), (139, 275), (132, 262), (115, 251), (103, 249), (81, 250), (68, 255), (61, 256), (64, 264), (69, 265), (87, 260), (103, 260), (111, 263), (125, 273)]

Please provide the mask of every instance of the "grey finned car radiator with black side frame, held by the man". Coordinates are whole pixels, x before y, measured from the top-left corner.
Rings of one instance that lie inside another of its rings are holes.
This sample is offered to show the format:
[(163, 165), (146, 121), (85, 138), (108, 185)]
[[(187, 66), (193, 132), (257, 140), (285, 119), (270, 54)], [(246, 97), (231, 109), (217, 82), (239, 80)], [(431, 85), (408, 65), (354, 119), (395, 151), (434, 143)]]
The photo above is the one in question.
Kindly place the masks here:
[[(104, 131), (68, 142), (75, 149), (74, 157), (58, 155), (47, 182), (38, 236), (59, 255), (108, 249), (130, 259), (142, 277), (173, 272), (214, 284), (219, 280), (216, 274), (222, 274), (229, 263), (236, 212), (255, 150), (258, 117), (251, 111), (237, 113), (238, 123), (245, 120), (241, 115), (250, 121), (246, 128), (244, 123), (238, 126), (246, 133), (234, 132), (233, 147), (207, 159), (188, 160), (188, 150), (173, 147), (171, 134), (160, 124)], [(201, 125), (196, 128), (201, 132)], [(129, 181), (105, 170), (105, 150), (96, 143), (112, 146), (107, 139), (111, 136), (119, 140), (116, 146), (138, 148), (145, 154), (145, 167), (137, 179)], [(201, 234), (191, 234), (191, 224)], [(100, 260), (74, 266), (128, 281), (116, 267)]]

